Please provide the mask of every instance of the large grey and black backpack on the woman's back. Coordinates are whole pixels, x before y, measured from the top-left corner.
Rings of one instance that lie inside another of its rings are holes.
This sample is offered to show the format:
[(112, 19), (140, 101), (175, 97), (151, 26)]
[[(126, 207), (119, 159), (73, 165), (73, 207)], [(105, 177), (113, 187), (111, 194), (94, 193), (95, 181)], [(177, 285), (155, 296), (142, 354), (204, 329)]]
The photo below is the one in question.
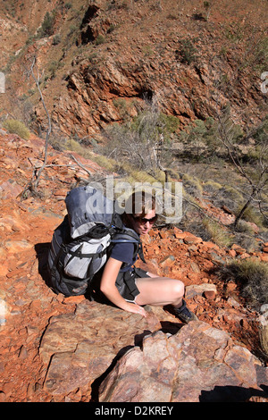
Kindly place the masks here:
[(48, 256), (51, 286), (56, 293), (84, 294), (116, 242), (133, 242), (134, 254), (144, 261), (138, 234), (124, 227), (113, 200), (101, 190), (89, 185), (71, 189), (65, 204), (67, 215), (54, 231)]

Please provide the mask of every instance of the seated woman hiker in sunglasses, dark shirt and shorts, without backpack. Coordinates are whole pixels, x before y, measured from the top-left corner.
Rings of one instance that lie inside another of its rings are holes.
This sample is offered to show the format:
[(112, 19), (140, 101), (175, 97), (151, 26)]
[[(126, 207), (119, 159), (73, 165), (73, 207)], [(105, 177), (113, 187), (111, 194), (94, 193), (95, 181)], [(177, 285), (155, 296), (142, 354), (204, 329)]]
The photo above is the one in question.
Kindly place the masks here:
[[(137, 209), (138, 213), (135, 213)], [(145, 191), (136, 191), (127, 200), (125, 213), (121, 217), (127, 228), (141, 236), (146, 234), (152, 229), (157, 218), (155, 198)], [(105, 298), (116, 307), (145, 317), (145, 305), (171, 305), (172, 313), (183, 323), (197, 320), (197, 316), (189, 311), (183, 299), (183, 282), (136, 268), (134, 264), (137, 257), (133, 255), (133, 243), (114, 244), (99, 284)]]

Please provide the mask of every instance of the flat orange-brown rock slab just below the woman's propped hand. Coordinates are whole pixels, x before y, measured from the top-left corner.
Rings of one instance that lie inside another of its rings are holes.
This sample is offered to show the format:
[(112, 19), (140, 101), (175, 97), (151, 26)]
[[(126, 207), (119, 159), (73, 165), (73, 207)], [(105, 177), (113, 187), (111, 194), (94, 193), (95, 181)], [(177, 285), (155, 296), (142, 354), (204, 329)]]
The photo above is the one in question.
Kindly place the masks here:
[(52, 317), (39, 348), (48, 365), (44, 391), (57, 396), (87, 391), (114, 357), (159, 328), (153, 314), (143, 318), (88, 300), (77, 306), (75, 314)]

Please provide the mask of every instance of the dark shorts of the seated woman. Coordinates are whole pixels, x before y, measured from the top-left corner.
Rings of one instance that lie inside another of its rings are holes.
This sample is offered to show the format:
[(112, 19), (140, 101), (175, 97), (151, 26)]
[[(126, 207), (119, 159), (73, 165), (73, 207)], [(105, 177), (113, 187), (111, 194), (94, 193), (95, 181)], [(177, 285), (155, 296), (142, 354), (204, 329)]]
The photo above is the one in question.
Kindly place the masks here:
[(136, 279), (150, 277), (145, 270), (141, 268), (134, 267), (133, 271), (120, 272), (115, 281), (115, 286), (117, 287), (121, 297), (133, 302), (139, 294), (138, 287), (136, 285)]

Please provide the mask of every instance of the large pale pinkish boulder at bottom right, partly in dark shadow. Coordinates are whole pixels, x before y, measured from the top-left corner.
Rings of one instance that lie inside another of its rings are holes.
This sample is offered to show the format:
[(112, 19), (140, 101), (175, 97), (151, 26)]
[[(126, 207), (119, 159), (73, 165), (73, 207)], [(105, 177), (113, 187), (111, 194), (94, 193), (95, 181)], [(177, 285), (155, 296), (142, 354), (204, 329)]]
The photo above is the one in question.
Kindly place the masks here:
[(239, 402), (263, 395), (259, 385), (267, 380), (267, 369), (227, 332), (195, 321), (174, 335), (150, 334), (142, 349), (125, 353), (101, 384), (99, 400)]

